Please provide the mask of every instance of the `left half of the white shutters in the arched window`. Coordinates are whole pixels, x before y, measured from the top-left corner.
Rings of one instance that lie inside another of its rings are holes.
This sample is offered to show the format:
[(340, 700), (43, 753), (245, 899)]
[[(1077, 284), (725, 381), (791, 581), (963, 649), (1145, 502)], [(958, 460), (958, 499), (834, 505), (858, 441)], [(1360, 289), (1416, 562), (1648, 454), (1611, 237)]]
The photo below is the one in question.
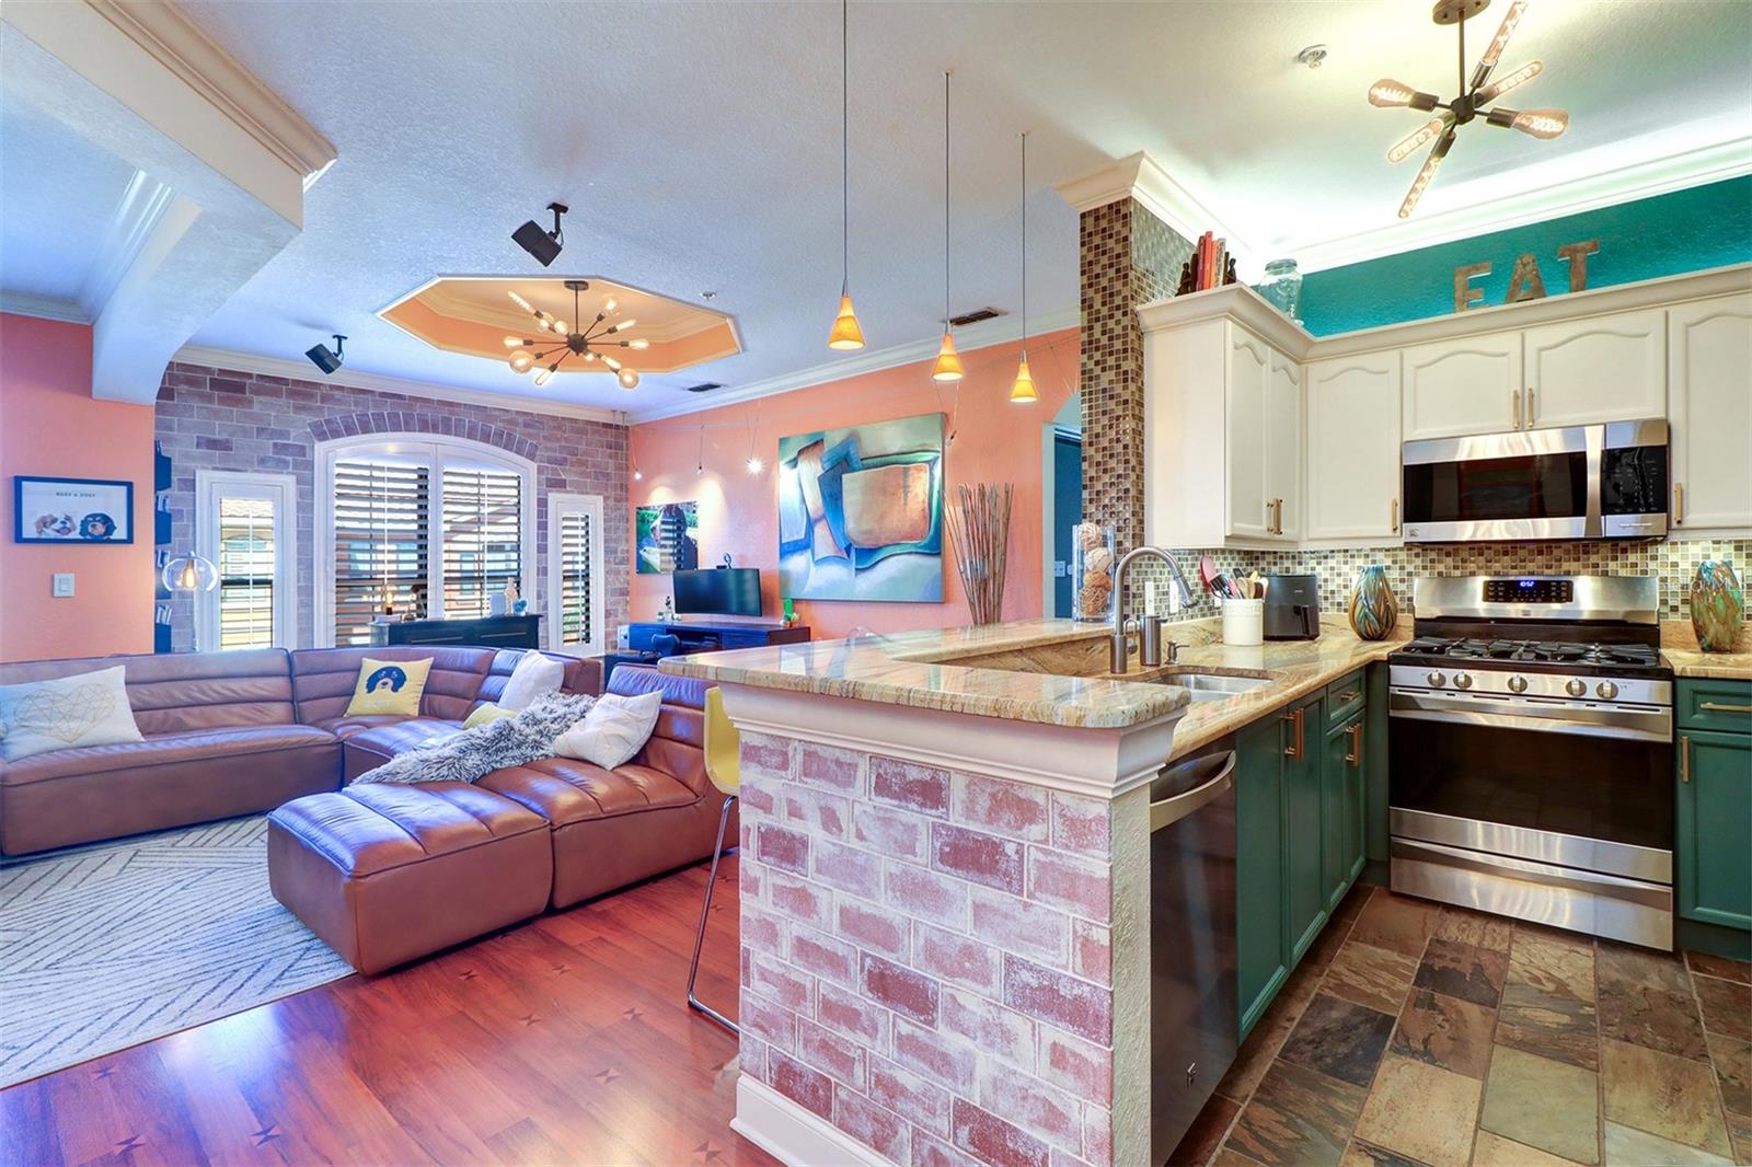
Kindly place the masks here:
[(429, 471), (382, 461), (335, 463), (335, 645), (371, 643), (385, 598), (426, 615)]

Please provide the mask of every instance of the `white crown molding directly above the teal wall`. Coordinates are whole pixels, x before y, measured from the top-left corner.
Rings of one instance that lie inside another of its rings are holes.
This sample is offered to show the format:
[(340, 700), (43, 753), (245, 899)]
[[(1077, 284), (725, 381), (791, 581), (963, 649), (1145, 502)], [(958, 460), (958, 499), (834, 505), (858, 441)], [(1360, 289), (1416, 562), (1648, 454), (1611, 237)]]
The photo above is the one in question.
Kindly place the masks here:
[(1752, 173), (1752, 137), (1668, 154), (1586, 179), (1552, 182), (1514, 198), (1486, 200), (1442, 214), (1395, 221), (1354, 235), (1286, 244), (1277, 251), (1295, 256), (1303, 272), (1323, 272), (1638, 198), (1668, 194), (1706, 182), (1736, 179), (1745, 173)]

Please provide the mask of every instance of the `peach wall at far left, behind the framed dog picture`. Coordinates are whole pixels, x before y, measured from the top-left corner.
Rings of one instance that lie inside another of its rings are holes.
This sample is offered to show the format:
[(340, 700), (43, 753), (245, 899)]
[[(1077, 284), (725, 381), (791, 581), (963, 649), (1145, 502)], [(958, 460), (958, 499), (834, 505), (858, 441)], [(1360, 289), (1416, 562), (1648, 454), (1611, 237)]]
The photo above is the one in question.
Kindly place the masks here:
[[(14, 543), (12, 475), (133, 480), (135, 541)], [(152, 407), (91, 396), (89, 326), (0, 314), (0, 661), (151, 652)]]

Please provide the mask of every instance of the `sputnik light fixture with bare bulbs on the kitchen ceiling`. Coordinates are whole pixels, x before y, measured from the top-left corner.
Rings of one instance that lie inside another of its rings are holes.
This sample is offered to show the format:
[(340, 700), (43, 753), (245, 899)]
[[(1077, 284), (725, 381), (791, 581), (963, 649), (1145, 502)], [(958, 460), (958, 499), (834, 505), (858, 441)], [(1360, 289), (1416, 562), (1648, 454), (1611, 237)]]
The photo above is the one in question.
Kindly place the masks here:
[(1405, 202), (1400, 203), (1402, 219), (1410, 217), (1417, 200), (1423, 198), (1424, 189), (1435, 179), (1437, 166), (1442, 165), (1447, 151), (1454, 145), (1454, 130), (1465, 126), (1473, 117), (1484, 117), (1493, 126), (1519, 130), (1535, 138), (1556, 138), (1570, 126), (1570, 114), (1561, 109), (1484, 109), (1545, 70), (1544, 63), (1528, 61), (1521, 68), (1491, 81), (1491, 74), (1496, 72), (1496, 61), (1501, 60), (1503, 47), (1508, 44), (1510, 33), (1514, 33), (1515, 25), (1521, 23), (1521, 14), (1528, 7), (1526, 0), (1514, 0), (1508, 5), (1501, 28), (1496, 30), (1496, 37), (1491, 39), (1484, 56), (1472, 68), (1472, 82), (1466, 82), (1466, 21), (1489, 7), (1489, 4), (1491, 0), (1438, 0), (1435, 11), (1430, 14), (1437, 25), (1454, 25), (1459, 30), (1459, 96), (1452, 102), (1442, 102), (1435, 93), (1412, 89), (1403, 81), (1393, 81), (1391, 77), (1382, 77), (1368, 88), (1370, 105), (1382, 109), (1409, 107), (1426, 114), (1437, 109), (1442, 110), (1440, 116), (1417, 126), (1417, 130), (1400, 138), (1388, 151), (1389, 163), (1402, 163), (1419, 145), (1435, 140), (1430, 156), (1412, 180), (1412, 189), (1405, 194)]

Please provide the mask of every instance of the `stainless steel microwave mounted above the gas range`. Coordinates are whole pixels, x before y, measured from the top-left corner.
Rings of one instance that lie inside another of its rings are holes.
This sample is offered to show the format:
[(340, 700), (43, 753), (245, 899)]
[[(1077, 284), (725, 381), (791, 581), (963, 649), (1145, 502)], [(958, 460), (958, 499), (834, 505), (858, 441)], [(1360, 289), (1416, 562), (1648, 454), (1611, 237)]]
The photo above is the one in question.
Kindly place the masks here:
[(1666, 536), (1664, 421), (1407, 442), (1407, 543)]

